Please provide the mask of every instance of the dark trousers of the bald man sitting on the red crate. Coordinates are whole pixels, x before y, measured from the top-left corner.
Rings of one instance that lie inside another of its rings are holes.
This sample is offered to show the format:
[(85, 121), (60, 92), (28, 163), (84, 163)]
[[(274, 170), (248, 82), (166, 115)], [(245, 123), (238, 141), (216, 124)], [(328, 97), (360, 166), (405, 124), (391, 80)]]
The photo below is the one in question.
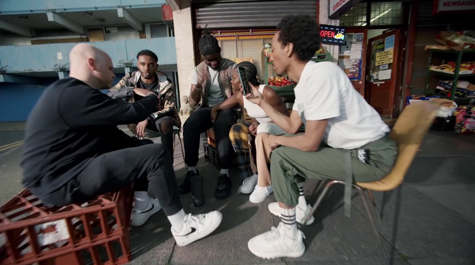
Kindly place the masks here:
[(132, 183), (135, 190), (147, 191), (150, 184), (165, 215), (170, 216), (183, 207), (178, 193), (175, 171), (169, 151), (164, 145), (130, 137), (125, 148), (94, 158), (84, 170), (66, 185), (39, 198), (47, 206), (60, 206), (92, 199), (119, 190)]

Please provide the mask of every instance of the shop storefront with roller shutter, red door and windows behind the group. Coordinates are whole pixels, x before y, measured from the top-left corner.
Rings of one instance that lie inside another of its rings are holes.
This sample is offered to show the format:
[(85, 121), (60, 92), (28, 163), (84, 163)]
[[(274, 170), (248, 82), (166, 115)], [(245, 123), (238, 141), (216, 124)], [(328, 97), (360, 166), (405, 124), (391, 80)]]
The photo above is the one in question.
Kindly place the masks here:
[(191, 3), (195, 64), (201, 61), (197, 44), (207, 27), (218, 38), (223, 57), (252, 61), (265, 83), (275, 73), (266, 67), (263, 46), (280, 19), (314, 16), (322, 27), (345, 31), (342, 42), (324, 42), (325, 60), (337, 63), (384, 118), (396, 118), (407, 96), (426, 89), (425, 46), (436, 43), (442, 30), (473, 28), (469, 16), (460, 16), (460, 7), (452, 5), (444, 0), (196, 1)]

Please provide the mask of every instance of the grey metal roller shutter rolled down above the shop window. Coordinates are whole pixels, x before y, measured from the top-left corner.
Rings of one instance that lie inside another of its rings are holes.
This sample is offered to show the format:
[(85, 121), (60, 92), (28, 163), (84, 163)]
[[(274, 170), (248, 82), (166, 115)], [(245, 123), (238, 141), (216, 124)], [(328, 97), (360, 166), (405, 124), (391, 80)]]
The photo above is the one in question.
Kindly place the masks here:
[(316, 19), (316, 4), (316, 0), (197, 3), (196, 27), (273, 28), (287, 15), (305, 14)]

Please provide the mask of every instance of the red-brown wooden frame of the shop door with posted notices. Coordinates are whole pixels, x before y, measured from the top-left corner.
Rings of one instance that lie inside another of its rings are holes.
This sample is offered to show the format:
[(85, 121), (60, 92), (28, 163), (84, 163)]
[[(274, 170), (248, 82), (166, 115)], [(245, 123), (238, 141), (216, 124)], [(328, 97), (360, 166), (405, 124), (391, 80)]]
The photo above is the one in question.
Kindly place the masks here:
[[(381, 38), (386, 38), (386, 37), (389, 37), (391, 35), (396, 35), (394, 36), (395, 38), (395, 41), (394, 41), (394, 51), (393, 51), (393, 63), (392, 63), (392, 69), (391, 69), (391, 80), (393, 80), (393, 82), (391, 82), (391, 86), (390, 86), (390, 91), (392, 91), (392, 93), (390, 93), (390, 102), (392, 103), (392, 107), (391, 107), (391, 110), (390, 110), (390, 115), (391, 117), (395, 118), (397, 117), (397, 113), (398, 113), (398, 105), (399, 105), (399, 85), (400, 85), (400, 80), (401, 78), (397, 78), (399, 76), (399, 73), (400, 71), (402, 70), (401, 67), (401, 59), (400, 59), (400, 54), (402, 53), (402, 43), (401, 43), (401, 29), (399, 28), (395, 28), (393, 30), (390, 30), (386, 33), (383, 33), (379, 36), (376, 36), (374, 38), (370, 38), (368, 39), (368, 46), (370, 48), (367, 49), (367, 53), (366, 53), (366, 77), (368, 77), (368, 74), (370, 73), (370, 69), (369, 69), (369, 66), (371, 65), (371, 62), (369, 60), (371, 60), (371, 43), (377, 39), (381, 39)], [(398, 41), (396, 41), (398, 40)], [(396, 63), (394, 63), (394, 60), (397, 60)], [(400, 77), (400, 76), (399, 76)], [(371, 89), (370, 89), (370, 85), (371, 85), (371, 77), (368, 77), (367, 78), (367, 81), (365, 84), (365, 99), (366, 101), (370, 102), (370, 97), (371, 97)]]

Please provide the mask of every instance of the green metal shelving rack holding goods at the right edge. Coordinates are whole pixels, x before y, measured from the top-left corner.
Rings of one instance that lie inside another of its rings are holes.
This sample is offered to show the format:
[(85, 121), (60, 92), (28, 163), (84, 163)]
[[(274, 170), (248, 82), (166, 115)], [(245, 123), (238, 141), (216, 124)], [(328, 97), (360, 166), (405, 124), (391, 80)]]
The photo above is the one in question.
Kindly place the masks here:
[[(432, 65), (432, 56), (433, 53), (442, 53), (444, 56), (447, 57), (447, 55), (456, 55), (456, 67), (454, 70), (453, 74), (445, 73), (445, 72), (439, 72), (439, 71), (434, 71), (430, 69), (430, 66)], [(459, 74), (460, 72), (460, 64), (462, 63), (462, 57), (464, 54), (471, 54), (475, 55), (475, 49), (474, 50), (462, 50), (462, 51), (455, 51), (455, 50), (439, 50), (439, 49), (429, 49), (429, 58), (428, 58), (428, 64), (427, 64), (427, 77), (426, 77), (426, 85), (424, 89), (425, 95), (437, 95), (440, 96), (441, 98), (446, 98), (450, 100), (463, 100), (463, 99), (471, 99), (474, 98), (472, 97), (456, 97), (456, 90), (457, 90), (457, 83), (459, 80), (459, 77), (472, 77), (475, 76), (475, 74)], [(475, 59), (474, 56), (471, 58), (472, 60)], [(429, 78), (431, 76), (450, 76), (451, 81), (452, 81), (452, 91), (450, 93), (450, 97), (444, 96), (444, 95), (439, 95), (435, 93), (433, 90), (429, 90)]]

